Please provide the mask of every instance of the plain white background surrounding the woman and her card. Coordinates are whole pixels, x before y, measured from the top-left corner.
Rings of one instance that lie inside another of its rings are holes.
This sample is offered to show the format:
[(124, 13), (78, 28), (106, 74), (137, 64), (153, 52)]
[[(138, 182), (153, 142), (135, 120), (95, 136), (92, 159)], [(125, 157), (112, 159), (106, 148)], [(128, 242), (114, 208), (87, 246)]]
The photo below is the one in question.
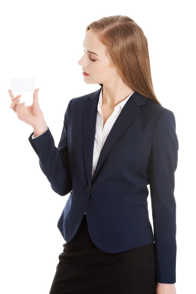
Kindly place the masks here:
[[(49, 294), (65, 243), (57, 221), (69, 195), (50, 187), (8, 94), (13, 77), (35, 77), (38, 99), (57, 147), (65, 110), (94, 92), (78, 60), (85, 28), (127, 15), (148, 40), (155, 95), (173, 111), (179, 140), (175, 172), (177, 294), (195, 292), (196, 21), (194, 1), (3, 1), (0, 4), (0, 293)], [(20, 93), (14, 93), (14, 96)], [(21, 93), (30, 105), (32, 93)], [(150, 221), (151, 203), (148, 196)]]

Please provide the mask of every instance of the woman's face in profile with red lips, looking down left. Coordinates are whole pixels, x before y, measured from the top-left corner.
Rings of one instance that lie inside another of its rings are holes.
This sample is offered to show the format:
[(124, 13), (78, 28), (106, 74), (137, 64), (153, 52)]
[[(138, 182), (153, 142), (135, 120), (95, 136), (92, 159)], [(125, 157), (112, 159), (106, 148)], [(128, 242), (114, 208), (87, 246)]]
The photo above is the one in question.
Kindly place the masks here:
[(89, 84), (107, 84), (111, 79), (114, 80), (118, 75), (117, 71), (115, 67), (109, 66), (106, 47), (100, 43), (97, 34), (91, 29), (85, 35), (83, 47), (85, 52), (78, 64), (89, 74), (84, 76), (84, 81)]

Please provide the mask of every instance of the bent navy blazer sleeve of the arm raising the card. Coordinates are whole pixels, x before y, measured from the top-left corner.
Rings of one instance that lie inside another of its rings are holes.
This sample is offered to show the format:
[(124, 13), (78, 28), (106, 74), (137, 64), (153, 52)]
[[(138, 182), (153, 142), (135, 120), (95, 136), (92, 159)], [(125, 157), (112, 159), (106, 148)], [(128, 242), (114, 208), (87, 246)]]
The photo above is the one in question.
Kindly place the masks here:
[(73, 99), (69, 101), (65, 112), (63, 129), (58, 147), (55, 147), (49, 127), (41, 136), (32, 139), (34, 133), (32, 132), (28, 138), (31, 146), (39, 157), (39, 165), (42, 172), (49, 180), (52, 190), (60, 196), (67, 195), (73, 189), (68, 157), (68, 118)]

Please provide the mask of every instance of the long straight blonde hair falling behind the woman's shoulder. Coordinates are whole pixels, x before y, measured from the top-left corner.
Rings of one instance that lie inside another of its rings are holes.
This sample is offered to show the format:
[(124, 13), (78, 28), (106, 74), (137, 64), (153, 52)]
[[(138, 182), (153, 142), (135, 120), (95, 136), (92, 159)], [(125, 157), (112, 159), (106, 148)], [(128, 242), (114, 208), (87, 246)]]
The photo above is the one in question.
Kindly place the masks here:
[(111, 65), (115, 65), (123, 81), (140, 95), (161, 105), (153, 89), (147, 38), (142, 28), (128, 16), (115, 15), (91, 23), (86, 32), (89, 29), (98, 32)]

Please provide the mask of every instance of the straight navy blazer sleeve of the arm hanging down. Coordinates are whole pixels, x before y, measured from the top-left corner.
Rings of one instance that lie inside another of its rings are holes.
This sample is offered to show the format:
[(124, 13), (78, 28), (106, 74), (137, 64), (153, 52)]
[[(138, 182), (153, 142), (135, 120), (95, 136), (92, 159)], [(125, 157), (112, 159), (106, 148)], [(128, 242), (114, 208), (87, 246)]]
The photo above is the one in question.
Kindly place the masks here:
[(149, 187), (152, 206), (157, 283), (176, 282), (176, 202), (174, 172), (178, 160), (175, 117), (166, 110), (153, 133), (149, 158)]

